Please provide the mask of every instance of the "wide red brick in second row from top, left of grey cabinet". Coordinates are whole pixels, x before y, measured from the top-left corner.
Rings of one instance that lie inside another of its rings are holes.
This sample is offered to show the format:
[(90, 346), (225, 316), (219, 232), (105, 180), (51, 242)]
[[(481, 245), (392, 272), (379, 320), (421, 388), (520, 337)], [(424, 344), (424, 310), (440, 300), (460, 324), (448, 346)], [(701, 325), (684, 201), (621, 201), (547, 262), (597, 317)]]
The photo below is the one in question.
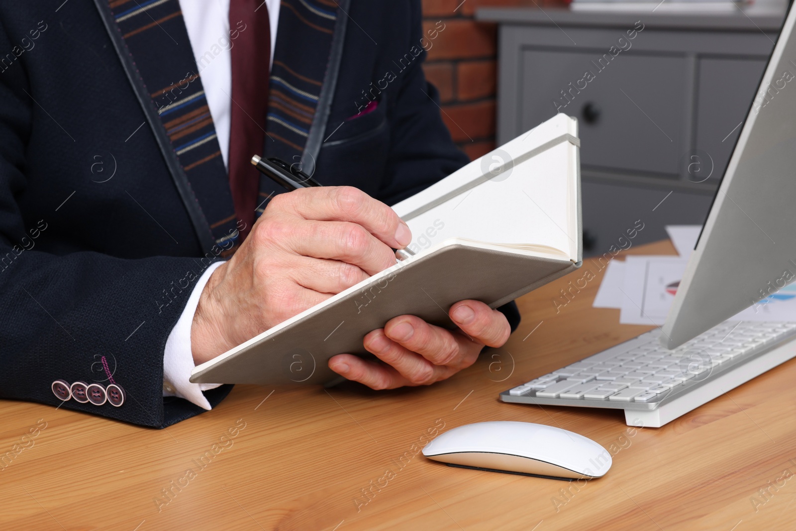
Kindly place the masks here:
[[(470, 59), (494, 57), (496, 48), (495, 25), (482, 24), (468, 19), (446, 20), (436, 38), (431, 41), (428, 59)], [(423, 22), (423, 31), (435, 28), (435, 22)]]

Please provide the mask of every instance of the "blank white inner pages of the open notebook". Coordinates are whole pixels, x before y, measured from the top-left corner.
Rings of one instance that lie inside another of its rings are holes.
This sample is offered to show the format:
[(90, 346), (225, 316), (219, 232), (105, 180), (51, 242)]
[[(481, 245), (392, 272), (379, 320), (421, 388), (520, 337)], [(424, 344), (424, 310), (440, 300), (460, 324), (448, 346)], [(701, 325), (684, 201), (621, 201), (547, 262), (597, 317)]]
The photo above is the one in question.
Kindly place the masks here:
[(393, 205), (412, 230), (409, 249), (455, 237), (577, 261), (577, 135), (575, 119), (556, 115)]

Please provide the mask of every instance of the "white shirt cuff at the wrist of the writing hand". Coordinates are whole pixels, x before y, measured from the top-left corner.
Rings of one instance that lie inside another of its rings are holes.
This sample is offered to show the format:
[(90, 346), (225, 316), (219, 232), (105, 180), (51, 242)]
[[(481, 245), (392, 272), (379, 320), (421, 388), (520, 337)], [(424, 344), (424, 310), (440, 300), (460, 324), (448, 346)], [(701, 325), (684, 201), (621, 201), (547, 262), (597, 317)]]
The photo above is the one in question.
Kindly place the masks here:
[(197, 279), (196, 286), (193, 287), (188, 298), (188, 303), (185, 304), (185, 309), (182, 310), (177, 324), (171, 329), (171, 334), (166, 340), (166, 350), (163, 352), (163, 396), (179, 396), (207, 410), (212, 408), (202, 391), (217, 388), (220, 384), (192, 384), (188, 381), (191, 371), (196, 367), (193, 364), (193, 352), (191, 351), (191, 325), (193, 324), (193, 314), (196, 313), (199, 305), (199, 296), (205, 289), (210, 275), (221, 264), (224, 262), (210, 264)]

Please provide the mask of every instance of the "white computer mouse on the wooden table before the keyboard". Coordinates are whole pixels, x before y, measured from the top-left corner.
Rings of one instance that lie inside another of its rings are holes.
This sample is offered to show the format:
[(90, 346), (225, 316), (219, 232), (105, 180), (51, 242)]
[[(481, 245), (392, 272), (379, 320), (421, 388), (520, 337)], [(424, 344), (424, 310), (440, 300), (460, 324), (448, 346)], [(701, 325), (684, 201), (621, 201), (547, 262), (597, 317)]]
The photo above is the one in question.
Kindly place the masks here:
[(611, 468), (611, 454), (572, 431), (528, 422), (479, 422), (445, 431), (423, 455), (453, 467), (543, 478), (599, 478)]

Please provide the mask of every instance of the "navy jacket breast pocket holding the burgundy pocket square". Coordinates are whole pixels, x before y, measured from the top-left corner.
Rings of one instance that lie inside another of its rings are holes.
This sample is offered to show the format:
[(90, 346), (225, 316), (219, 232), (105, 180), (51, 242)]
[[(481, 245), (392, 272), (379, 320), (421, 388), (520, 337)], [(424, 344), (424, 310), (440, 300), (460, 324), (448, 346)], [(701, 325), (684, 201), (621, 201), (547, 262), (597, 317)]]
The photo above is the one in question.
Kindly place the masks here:
[(382, 96), (373, 111), (329, 119), (331, 131), (318, 153), (316, 172), (323, 185), (356, 186), (376, 194), (384, 179), (390, 139), (387, 95)]

